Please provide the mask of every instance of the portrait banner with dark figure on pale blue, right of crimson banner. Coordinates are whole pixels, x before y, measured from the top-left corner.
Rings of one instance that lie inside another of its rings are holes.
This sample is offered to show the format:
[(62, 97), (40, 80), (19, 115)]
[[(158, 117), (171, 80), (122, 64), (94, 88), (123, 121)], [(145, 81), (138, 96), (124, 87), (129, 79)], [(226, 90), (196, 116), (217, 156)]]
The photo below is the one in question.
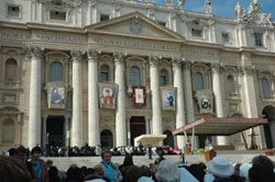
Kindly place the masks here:
[(166, 111), (176, 110), (176, 88), (162, 87), (161, 96), (162, 96), (163, 110)]

